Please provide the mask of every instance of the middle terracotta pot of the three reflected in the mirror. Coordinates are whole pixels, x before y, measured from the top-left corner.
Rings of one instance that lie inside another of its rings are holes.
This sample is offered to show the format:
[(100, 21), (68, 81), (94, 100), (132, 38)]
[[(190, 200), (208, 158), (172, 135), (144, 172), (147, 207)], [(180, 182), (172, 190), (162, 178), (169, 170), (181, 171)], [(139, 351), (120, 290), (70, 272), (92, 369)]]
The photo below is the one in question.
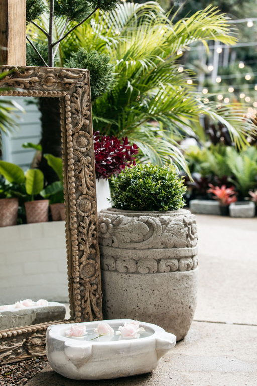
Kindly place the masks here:
[(28, 201), (24, 205), (28, 224), (48, 221), (49, 200)]

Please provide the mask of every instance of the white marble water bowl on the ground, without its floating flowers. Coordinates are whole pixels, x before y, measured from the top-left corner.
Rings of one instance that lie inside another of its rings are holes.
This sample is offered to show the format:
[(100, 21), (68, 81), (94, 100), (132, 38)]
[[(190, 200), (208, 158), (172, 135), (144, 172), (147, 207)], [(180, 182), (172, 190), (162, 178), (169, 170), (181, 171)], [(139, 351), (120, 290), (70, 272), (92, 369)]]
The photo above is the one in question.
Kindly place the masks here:
[[(115, 335), (125, 322), (133, 320), (76, 323), (77, 326), (86, 326), (84, 337), (66, 336), (71, 324), (48, 327), (46, 344), (50, 366), (67, 378), (88, 380), (113, 379), (154, 370), (161, 357), (175, 346), (176, 336), (155, 324), (143, 322), (140, 322), (140, 327), (145, 332), (138, 339)], [(99, 334), (93, 329), (99, 323), (108, 323), (114, 329), (114, 335), (97, 338)]]

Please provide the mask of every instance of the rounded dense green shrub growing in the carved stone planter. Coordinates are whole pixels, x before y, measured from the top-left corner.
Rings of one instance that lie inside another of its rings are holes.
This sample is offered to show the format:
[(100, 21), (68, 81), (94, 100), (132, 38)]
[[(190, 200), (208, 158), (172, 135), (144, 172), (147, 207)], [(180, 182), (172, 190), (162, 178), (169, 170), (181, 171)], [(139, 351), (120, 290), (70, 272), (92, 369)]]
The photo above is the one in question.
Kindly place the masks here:
[(111, 199), (118, 209), (163, 211), (185, 205), (186, 187), (174, 166), (137, 164), (111, 177)]

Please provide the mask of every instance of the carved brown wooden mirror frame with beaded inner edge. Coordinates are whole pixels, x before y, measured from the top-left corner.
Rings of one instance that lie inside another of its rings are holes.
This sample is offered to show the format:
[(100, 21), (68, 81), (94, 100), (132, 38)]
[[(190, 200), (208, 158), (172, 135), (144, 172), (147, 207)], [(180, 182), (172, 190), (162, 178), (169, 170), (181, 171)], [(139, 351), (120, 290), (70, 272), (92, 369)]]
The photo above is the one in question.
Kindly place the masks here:
[[(11, 73), (8, 71), (11, 70)], [(101, 320), (101, 277), (89, 71), (0, 66), (0, 95), (60, 98), (66, 244), (71, 318)], [(15, 88), (15, 89), (14, 89)], [(57, 321), (0, 331), (0, 364), (45, 354), (45, 332)]]

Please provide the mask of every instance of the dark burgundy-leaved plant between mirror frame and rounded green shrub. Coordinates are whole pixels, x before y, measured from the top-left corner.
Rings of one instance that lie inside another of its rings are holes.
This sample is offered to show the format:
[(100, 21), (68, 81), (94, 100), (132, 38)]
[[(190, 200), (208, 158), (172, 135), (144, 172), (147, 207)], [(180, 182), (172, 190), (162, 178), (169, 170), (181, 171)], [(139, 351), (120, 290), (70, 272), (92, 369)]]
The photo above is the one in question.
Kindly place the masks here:
[(94, 132), (96, 178), (107, 179), (120, 173), (126, 166), (134, 166), (134, 155), (137, 153), (137, 145), (130, 145), (127, 137), (122, 137), (121, 141), (117, 137), (101, 136), (99, 132)]

